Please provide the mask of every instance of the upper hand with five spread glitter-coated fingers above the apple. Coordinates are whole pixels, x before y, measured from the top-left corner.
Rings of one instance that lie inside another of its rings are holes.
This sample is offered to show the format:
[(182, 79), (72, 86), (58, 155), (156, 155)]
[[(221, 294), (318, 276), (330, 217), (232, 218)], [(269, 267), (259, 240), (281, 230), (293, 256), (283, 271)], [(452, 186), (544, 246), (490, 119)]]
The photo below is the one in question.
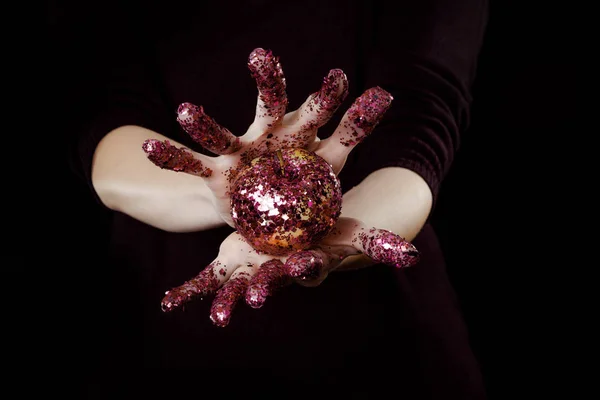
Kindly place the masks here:
[(369, 135), (389, 108), (392, 97), (381, 88), (363, 93), (344, 114), (331, 137), (320, 140), (318, 129), (325, 125), (348, 94), (346, 75), (329, 72), (321, 89), (311, 94), (297, 110), (287, 113), (286, 81), (278, 58), (270, 51), (254, 50), (248, 66), (258, 86), (256, 116), (247, 132), (238, 137), (204, 113), (183, 103), (178, 121), (191, 138), (216, 157), (177, 148), (168, 140), (149, 139), (143, 149), (157, 166), (204, 179), (213, 194), (219, 215), (234, 226), (230, 215), (229, 186), (237, 171), (255, 157), (283, 147), (304, 148), (323, 157), (338, 174), (355, 145)]

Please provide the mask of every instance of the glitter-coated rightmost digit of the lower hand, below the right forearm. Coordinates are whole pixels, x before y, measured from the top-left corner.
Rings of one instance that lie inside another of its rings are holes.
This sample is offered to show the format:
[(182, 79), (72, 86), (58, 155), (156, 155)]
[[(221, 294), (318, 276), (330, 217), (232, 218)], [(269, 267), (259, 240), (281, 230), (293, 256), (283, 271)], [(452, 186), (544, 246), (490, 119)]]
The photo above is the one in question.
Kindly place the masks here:
[(365, 254), (374, 261), (397, 268), (412, 267), (420, 259), (420, 253), (410, 242), (384, 229), (371, 229), (358, 235)]

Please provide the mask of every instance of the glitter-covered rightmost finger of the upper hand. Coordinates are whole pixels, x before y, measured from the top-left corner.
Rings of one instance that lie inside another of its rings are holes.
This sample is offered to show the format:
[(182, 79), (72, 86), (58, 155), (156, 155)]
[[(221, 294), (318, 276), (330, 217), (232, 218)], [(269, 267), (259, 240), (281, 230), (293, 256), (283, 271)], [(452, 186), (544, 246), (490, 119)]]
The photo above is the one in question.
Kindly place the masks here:
[(348, 119), (359, 130), (350, 137), (342, 138), (344, 146), (354, 146), (371, 134), (387, 112), (394, 98), (380, 87), (365, 91), (348, 109)]

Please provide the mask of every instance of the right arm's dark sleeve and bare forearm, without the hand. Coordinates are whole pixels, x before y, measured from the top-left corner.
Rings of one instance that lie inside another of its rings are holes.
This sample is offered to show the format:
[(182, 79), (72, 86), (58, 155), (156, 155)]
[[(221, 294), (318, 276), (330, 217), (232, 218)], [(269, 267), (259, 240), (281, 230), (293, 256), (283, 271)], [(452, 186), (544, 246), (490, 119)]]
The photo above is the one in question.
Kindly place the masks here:
[[(487, 21), (487, 1), (378, 1), (367, 85), (394, 96), (376, 135), (346, 177), (342, 216), (408, 241), (435, 207), (439, 187), (469, 126), (471, 85)], [(418, 21), (418, 22), (415, 22)], [(351, 256), (338, 269), (372, 265)]]

